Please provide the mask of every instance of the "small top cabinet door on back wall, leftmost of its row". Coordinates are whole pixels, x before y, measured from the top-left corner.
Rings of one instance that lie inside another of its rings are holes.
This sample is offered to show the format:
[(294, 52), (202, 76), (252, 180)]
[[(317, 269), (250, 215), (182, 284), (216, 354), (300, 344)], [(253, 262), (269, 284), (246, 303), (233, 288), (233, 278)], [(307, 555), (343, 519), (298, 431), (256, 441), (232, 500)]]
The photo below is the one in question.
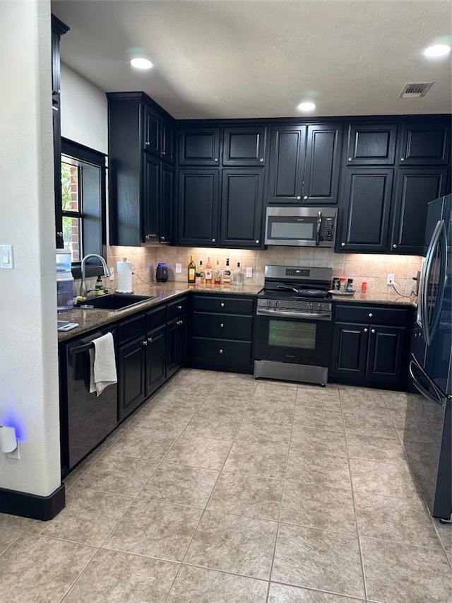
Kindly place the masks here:
[(220, 128), (182, 129), (179, 165), (220, 165)]

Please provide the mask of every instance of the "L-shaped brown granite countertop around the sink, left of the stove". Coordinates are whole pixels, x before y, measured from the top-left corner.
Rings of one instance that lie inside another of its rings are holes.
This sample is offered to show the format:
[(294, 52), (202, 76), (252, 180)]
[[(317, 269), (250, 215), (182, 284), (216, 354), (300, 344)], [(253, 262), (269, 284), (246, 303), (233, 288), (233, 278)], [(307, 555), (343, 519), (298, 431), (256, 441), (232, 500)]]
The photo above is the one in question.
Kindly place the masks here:
[[(201, 285), (186, 285), (184, 283), (159, 283), (158, 285), (146, 285), (141, 283), (134, 288), (133, 293), (139, 295), (155, 295), (155, 298), (148, 301), (143, 301), (139, 305), (134, 305), (132, 308), (124, 308), (124, 310), (83, 310), (83, 308), (73, 308), (67, 312), (58, 312), (58, 320), (68, 320), (69, 322), (77, 322), (78, 327), (72, 331), (59, 331), (58, 341), (66, 341), (67, 339), (73, 339), (81, 334), (92, 331), (99, 327), (105, 326), (111, 322), (117, 322), (127, 318), (138, 312), (145, 312), (153, 308), (153, 306), (160, 303), (166, 303), (176, 298), (178, 295), (189, 293), (190, 291), (196, 291), (196, 293), (231, 293), (233, 295), (256, 295), (261, 291), (262, 286), (257, 285), (242, 285), (242, 286), (230, 286), (225, 287), (223, 285), (214, 286), (201, 286)], [(90, 303), (89, 298), (86, 300), (87, 304)]]

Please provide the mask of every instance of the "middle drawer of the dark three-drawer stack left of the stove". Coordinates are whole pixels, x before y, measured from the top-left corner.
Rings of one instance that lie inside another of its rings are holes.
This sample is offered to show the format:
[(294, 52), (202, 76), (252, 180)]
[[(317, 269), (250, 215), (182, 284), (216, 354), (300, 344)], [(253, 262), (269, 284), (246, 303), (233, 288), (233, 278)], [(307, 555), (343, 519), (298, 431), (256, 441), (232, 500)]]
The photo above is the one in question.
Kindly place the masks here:
[(194, 312), (193, 334), (198, 337), (218, 337), (220, 339), (251, 341), (253, 336), (253, 317)]

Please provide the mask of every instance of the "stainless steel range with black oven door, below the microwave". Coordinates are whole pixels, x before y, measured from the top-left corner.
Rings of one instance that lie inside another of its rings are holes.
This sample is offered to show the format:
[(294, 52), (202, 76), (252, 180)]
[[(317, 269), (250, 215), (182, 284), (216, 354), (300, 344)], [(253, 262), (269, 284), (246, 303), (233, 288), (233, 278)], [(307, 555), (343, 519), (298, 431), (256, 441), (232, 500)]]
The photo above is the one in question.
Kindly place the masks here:
[(256, 307), (254, 377), (326, 385), (332, 275), (331, 268), (266, 266)]

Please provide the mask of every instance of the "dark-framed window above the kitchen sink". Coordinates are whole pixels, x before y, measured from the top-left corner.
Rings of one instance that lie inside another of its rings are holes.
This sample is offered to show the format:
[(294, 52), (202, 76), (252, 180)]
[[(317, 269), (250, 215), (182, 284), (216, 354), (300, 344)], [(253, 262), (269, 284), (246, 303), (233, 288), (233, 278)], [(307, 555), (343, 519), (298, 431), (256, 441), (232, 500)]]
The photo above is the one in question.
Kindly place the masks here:
[[(67, 139), (61, 141), (61, 213), (64, 247), (71, 250), (72, 272), (81, 276), (81, 260), (102, 255), (105, 243), (105, 155)], [(99, 260), (88, 259), (86, 275), (100, 274)]]

